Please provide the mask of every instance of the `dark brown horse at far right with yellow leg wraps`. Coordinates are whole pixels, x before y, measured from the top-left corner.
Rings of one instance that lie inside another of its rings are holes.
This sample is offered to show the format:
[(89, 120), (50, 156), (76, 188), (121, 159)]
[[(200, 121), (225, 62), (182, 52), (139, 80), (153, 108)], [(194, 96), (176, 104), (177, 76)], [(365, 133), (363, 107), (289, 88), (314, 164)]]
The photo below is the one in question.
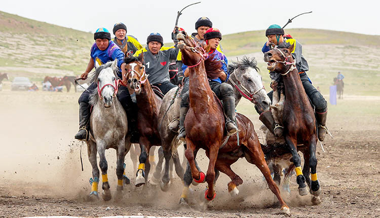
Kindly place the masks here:
[[(296, 181), (300, 195), (307, 195), (305, 181), (311, 188), (311, 194), (319, 196), (321, 189), (317, 178), (317, 130), (316, 119), (312, 105), (303, 89), (298, 76), (295, 60), (291, 55), (293, 45), (289, 48), (274, 48), (264, 54), (264, 61), (268, 62), (268, 69), (283, 76), (285, 87), (285, 104), (282, 117), (284, 125), (285, 141), (290, 148), (295, 165)], [(305, 148), (302, 152), (305, 158), (305, 165), (301, 170), (301, 158), (297, 153), (297, 145), (303, 144)], [(311, 168), (311, 183), (310, 183)], [(306, 175), (306, 177), (303, 174)]]

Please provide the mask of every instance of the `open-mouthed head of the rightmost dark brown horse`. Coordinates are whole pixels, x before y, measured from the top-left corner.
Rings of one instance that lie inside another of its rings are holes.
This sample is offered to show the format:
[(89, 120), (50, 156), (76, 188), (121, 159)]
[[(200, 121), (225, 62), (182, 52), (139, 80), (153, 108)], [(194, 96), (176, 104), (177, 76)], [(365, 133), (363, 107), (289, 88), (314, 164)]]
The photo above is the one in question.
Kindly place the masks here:
[(265, 52), (264, 61), (268, 62), (267, 69), (284, 74), (288, 71), (292, 65), (295, 64), (291, 51), (293, 51), (294, 45), (290, 45), (289, 48), (275, 47), (272, 50)]

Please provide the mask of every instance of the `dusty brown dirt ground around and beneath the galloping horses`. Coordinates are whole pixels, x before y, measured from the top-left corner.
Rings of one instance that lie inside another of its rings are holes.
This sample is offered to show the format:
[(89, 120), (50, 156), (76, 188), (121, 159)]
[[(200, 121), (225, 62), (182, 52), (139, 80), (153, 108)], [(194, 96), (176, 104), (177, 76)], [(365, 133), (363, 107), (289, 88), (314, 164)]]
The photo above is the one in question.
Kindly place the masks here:
[[(190, 206), (179, 206), (182, 184), (174, 174), (167, 193), (151, 181), (145, 188), (125, 187), (122, 199), (89, 202), (91, 166), (86, 146), (82, 147), (82, 171), (81, 142), (73, 140), (78, 130), (78, 97), (79, 93), (0, 92), (0, 217), (284, 216), (277, 214), (274, 195), (257, 168), (244, 159), (233, 165), (244, 180), (235, 199), (227, 192), (229, 178), (221, 174), (214, 201), (204, 202), (206, 185), (201, 184), (192, 186)], [(328, 127), (334, 138), (323, 142), (325, 152), (317, 148), (322, 203), (312, 205), (310, 195), (300, 197), (293, 176), (292, 193), (282, 193), (293, 217), (380, 217), (379, 102), (378, 97), (347, 96), (338, 100), (338, 105), (329, 105)], [(252, 120), (260, 136), (253, 106), (244, 100), (238, 112)], [(115, 154), (107, 151), (106, 156), (112, 191), (117, 184)], [(204, 153), (198, 160), (205, 169), (208, 159)], [(133, 184), (135, 172), (129, 155), (126, 164)]]

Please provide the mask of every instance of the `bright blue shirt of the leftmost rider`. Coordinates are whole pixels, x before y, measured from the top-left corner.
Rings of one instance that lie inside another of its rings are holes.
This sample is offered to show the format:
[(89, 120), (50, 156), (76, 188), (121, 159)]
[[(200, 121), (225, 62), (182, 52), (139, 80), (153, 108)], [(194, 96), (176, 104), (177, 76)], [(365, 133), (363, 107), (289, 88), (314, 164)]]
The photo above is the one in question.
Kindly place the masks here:
[(114, 61), (118, 59), (118, 76), (122, 78), (121, 66), (124, 63), (124, 54), (122, 50), (116, 45), (113, 41), (109, 41), (107, 49), (104, 51), (100, 50), (96, 43), (91, 47), (91, 57), (94, 59), (94, 66), (96, 66), (96, 62), (99, 65), (107, 63), (108, 61)]

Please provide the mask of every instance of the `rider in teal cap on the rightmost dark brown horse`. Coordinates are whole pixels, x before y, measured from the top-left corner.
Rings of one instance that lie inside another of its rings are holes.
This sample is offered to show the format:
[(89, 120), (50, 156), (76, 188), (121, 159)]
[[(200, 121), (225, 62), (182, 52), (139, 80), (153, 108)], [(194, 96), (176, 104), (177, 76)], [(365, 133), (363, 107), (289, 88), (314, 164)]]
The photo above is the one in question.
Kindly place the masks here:
[[(326, 127), (327, 120), (327, 102), (322, 96), (322, 94), (312, 85), (306, 71), (309, 70), (308, 62), (305, 57), (302, 56), (302, 45), (296, 41), (295, 39), (284, 39), (284, 29), (279, 25), (271, 25), (265, 31), (265, 36), (268, 37), (268, 42), (266, 42), (262, 48), (262, 52), (268, 52), (271, 48), (271, 45), (278, 46), (279, 48), (289, 48), (289, 46), (294, 45), (293, 51), (291, 54), (295, 59), (296, 67), (299, 73), (299, 77), (301, 79), (303, 88), (305, 89), (306, 94), (309, 96), (311, 101), (315, 106), (316, 111), (316, 119), (318, 122), (318, 139), (323, 141), (326, 133), (328, 132)], [(275, 72), (270, 72), (272, 83), (271, 87), (274, 91), (277, 90), (277, 84), (282, 80), (282, 77)], [(268, 93), (268, 96), (273, 97), (273, 91)], [(269, 127), (272, 132), (275, 132), (279, 137), (282, 135), (283, 127), (279, 124), (275, 124), (273, 117), (270, 113), (262, 113), (259, 117), (260, 121)], [(274, 128), (275, 127), (275, 128)]]

